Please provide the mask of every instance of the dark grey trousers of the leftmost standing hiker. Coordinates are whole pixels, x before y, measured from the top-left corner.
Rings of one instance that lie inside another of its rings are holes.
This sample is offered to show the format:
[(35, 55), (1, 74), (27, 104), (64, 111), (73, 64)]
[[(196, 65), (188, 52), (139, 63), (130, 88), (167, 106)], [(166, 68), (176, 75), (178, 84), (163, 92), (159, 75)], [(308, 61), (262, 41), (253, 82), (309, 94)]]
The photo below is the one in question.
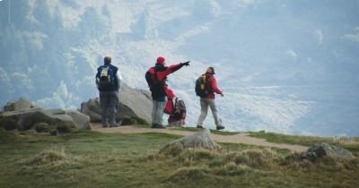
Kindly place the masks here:
[(100, 91), (101, 123), (115, 125), (118, 107), (118, 91)]

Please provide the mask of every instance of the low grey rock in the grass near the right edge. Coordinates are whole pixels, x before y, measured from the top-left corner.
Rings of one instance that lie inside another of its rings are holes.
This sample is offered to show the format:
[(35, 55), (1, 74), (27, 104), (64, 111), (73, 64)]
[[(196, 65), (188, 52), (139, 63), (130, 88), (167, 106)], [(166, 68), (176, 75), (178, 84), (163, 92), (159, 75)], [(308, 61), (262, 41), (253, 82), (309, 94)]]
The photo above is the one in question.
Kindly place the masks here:
[(301, 155), (302, 158), (311, 161), (315, 161), (317, 158), (323, 158), (325, 156), (346, 159), (355, 158), (349, 150), (325, 142), (314, 144), (307, 151), (302, 152)]

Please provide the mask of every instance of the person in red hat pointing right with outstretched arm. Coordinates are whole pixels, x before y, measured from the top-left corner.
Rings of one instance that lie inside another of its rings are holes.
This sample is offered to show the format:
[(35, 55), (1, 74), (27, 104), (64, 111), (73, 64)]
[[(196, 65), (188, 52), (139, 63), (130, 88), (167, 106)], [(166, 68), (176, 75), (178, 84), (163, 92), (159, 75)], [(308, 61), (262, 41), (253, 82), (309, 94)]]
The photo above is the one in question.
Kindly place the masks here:
[(165, 128), (162, 125), (162, 116), (167, 92), (167, 76), (180, 70), (184, 65), (189, 65), (189, 62), (185, 62), (165, 66), (165, 61), (164, 57), (159, 56), (156, 64), (146, 72), (146, 80), (153, 98), (152, 128)]

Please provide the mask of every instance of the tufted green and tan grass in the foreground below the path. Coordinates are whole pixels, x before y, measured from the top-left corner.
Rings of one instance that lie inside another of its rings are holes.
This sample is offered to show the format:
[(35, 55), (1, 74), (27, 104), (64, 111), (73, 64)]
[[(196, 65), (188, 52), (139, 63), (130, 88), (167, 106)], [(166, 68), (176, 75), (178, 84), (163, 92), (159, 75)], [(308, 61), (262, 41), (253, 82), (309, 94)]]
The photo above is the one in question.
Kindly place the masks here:
[(311, 163), (288, 150), (228, 143), (161, 150), (177, 138), (0, 129), (0, 187), (359, 187), (358, 158)]

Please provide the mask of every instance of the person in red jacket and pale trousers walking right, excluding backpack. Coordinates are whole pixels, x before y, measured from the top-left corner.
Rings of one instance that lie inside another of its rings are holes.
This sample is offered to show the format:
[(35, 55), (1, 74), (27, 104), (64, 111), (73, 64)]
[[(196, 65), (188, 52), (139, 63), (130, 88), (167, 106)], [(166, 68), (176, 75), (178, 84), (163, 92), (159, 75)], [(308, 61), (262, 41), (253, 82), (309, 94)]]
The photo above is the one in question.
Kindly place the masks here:
[(224, 129), (221, 118), (217, 114), (217, 107), (215, 107), (215, 93), (220, 94), (222, 97), (224, 97), (223, 91), (217, 87), (217, 83), (215, 81), (215, 69), (213, 67), (208, 67), (206, 69), (206, 73), (204, 73), (203, 76), (205, 76), (207, 84), (206, 87), (209, 88), (209, 92), (205, 96), (200, 98), (201, 115), (199, 115), (198, 117), (197, 128), (203, 128), (203, 122), (206, 119), (208, 107), (210, 107), (212, 114), (215, 118), (216, 129)]

